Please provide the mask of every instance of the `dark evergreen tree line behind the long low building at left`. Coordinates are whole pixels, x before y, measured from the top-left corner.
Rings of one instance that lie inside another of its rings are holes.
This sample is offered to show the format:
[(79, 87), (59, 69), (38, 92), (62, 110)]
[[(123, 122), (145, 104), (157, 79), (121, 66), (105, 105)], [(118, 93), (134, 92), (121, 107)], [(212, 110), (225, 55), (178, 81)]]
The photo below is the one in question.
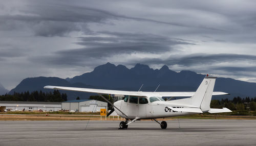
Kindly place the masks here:
[(53, 92), (14, 92), (12, 95), (0, 95), (0, 101), (23, 101), (23, 102), (64, 102), (67, 101), (68, 96), (66, 93), (60, 93), (58, 90)]

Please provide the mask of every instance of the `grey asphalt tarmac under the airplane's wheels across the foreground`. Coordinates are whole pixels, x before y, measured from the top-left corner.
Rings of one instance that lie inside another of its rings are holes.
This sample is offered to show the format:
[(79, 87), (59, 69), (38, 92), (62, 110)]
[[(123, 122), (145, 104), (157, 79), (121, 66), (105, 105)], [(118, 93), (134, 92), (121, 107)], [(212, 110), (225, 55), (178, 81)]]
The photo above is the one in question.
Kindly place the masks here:
[(165, 130), (155, 121), (136, 121), (126, 130), (119, 123), (0, 121), (0, 145), (256, 145), (256, 120), (180, 119), (180, 128), (169, 120)]

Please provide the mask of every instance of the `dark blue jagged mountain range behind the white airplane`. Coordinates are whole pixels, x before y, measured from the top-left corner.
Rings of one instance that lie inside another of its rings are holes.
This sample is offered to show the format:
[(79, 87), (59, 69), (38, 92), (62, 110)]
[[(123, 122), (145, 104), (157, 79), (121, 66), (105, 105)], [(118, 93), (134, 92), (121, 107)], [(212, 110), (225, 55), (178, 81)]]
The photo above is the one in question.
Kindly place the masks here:
[[(124, 65), (116, 66), (106, 63), (95, 67), (91, 72), (73, 78), (27, 78), (12, 89), (9, 94), (34, 90), (52, 91), (43, 89), (46, 85), (137, 91), (143, 84), (141, 91), (155, 91), (160, 84), (157, 91), (196, 91), (204, 77), (205, 75), (197, 74), (194, 71), (182, 70), (176, 72), (170, 70), (166, 65), (160, 69), (152, 69), (147, 65), (136, 64), (129, 69)], [(217, 78), (215, 91), (230, 93), (230, 95), (221, 96), (221, 98), (233, 98), (234, 96), (253, 98), (256, 96), (256, 83), (231, 78)], [(80, 99), (88, 99), (92, 95), (92, 93), (73, 91), (61, 92), (68, 94), (68, 100), (73, 100), (77, 96)], [(220, 96), (214, 96), (214, 98), (220, 98)]]

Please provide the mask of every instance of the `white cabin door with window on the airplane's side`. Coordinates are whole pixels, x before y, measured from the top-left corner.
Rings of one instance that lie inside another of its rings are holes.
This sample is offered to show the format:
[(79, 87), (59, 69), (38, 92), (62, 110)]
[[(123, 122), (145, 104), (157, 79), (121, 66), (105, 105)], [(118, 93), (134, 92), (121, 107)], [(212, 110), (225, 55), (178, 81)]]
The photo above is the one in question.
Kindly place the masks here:
[(128, 103), (128, 116), (135, 118), (138, 116), (138, 97), (130, 96)]

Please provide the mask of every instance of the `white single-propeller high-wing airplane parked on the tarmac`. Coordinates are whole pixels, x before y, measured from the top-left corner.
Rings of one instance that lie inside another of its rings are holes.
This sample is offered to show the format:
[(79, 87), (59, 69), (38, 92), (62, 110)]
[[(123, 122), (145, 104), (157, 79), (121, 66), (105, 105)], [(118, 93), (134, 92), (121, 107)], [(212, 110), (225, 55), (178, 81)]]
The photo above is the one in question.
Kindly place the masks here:
[[(104, 90), (90, 88), (74, 88), (60, 86), (45, 86), (46, 89), (82, 91), (98, 93), (106, 102), (110, 103), (118, 115), (125, 118), (121, 121), (120, 129), (127, 128), (129, 124), (135, 120), (153, 119), (160, 124), (162, 129), (166, 129), (166, 121), (159, 123), (157, 118), (191, 115), (198, 113), (222, 113), (232, 112), (227, 108), (214, 109), (210, 108), (212, 95), (225, 95), (225, 92), (213, 92), (216, 77), (208, 75), (203, 79), (196, 92), (142, 92), (142, 91), (119, 91), (119, 90)], [(120, 100), (112, 104), (102, 96), (102, 94), (119, 94), (125, 95), (124, 100)], [(173, 101), (164, 101), (163, 96), (190, 96), (190, 98), (179, 99)]]

